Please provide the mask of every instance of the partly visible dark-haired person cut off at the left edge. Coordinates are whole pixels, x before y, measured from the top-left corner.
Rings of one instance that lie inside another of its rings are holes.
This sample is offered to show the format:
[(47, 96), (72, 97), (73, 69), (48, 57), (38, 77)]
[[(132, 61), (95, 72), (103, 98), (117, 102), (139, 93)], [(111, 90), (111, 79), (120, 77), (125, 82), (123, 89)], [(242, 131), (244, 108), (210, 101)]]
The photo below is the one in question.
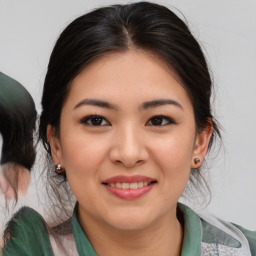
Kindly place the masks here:
[(35, 161), (37, 112), (29, 92), (0, 72), (0, 194), (18, 200), (29, 184)]

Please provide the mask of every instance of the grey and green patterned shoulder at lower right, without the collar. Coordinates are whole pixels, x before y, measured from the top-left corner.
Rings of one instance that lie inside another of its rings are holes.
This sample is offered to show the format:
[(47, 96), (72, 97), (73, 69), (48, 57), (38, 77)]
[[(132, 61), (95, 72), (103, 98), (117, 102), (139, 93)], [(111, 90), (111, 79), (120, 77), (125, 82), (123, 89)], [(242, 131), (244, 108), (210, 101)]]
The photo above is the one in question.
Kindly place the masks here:
[(226, 255), (226, 252), (231, 255), (256, 255), (255, 231), (212, 216), (200, 216), (200, 220), (202, 251), (216, 250), (219, 255)]

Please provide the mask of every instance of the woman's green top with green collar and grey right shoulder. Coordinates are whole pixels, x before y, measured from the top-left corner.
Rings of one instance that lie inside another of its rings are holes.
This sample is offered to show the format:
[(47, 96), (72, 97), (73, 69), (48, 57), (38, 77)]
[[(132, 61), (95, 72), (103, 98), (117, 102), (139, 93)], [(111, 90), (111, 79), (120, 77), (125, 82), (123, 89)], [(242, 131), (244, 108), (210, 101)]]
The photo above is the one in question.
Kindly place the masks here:
[[(226, 253), (221, 254), (221, 250), (230, 251), (229, 253), (235, 252), (235, 255), (249, 256), (250, 254), (244, 254), (248, 242), (251, 247), (251, 255), (256, 255), (256, 232), (225, 223), (226, 226), (230, 225), (230, 230), (234, 232), (234, 236), (232, 236), (201, 219), (189, 207), (178, 204), (178, 208), (182, 212), (184, 220), (184, 239), (181, 256), (228, 255)], [(78, 255), (97, 256), (78, 222), (76, 208), (70, 224)], [(242, 246), (241, 242), (234, 238), (237, 234), (242, 235), (240, 230), (245, 234), (245, 246)], [(6, 231), (7, 234), (10, 234), (10, 239), (3, 249), (3, 256), (54, 255), (46, 224), (43, 218), (31, 208), (22, 208), (12, 218)], [(218, 250), (220, 250), (218, 254), (213, 254), (217, 253)], [(240, 252), (241, 254), (239, 254)]]

